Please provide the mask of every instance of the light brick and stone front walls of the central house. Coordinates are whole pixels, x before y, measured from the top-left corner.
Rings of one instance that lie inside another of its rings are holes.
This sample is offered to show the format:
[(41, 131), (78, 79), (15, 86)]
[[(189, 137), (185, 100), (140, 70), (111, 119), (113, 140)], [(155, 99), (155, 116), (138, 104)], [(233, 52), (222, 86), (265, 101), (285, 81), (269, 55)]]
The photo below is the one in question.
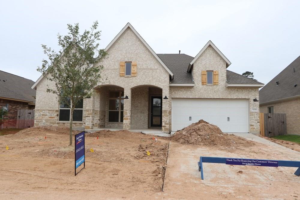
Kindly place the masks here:
[[(167, 70), (130, 28), (127, 28), (110, 46), (107, 53), (108, 57), (101, 63), (104, 66), (102, 77), (107, 78), (107, 81), (99, 81), (99, 86), (95, 88), (91, 98), (83, 100), (83, 119), (81, 123), (75, 124), (75, 127), (85, 129), (117, 127), (127, 130), (148, 128), (151, 109), (149, 102), (152, 95), (169, 98), (162, 100), (164, 132), (171, 130), (172, 98), (248, 99), (249, 110), (252, 108), (259, 110), (259, 104), (253, 102), (254, 98), (259, 98), (258, 88), (226, 87), (226, 63), (212, 47), (208, 47), (193, 65), (194, 87), (170, 87), (170, 75)], [(137, 76), (120, 76), (120, 61), (137, 62)], [(219, 85), (201, 85), (201, 70), (218, 70)], [(35, 115), (35, 125), (68, 126), (67, 122), (58, 121), (58, 101), (54, 94), (46, 92), (47, 85), (54, 88), (54, 84), (45, 78), (37, 86), (38, 112)], [(121, 123), (108, 122), (109, 91), (124, 91), (124, 96), (128, 96), (128, 99), (124, 99)], [(259, 132), (259, 112), (250, 112), (249, 122), (249, 131)]]

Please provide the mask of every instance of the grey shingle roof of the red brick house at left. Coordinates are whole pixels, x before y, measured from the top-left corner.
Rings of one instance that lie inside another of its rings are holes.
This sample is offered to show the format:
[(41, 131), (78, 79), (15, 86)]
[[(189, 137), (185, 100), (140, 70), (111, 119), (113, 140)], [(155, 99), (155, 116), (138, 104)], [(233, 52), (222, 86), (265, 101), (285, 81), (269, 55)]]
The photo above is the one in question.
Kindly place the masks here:
[(0, 70), (0, 97), (35, 103), (36, 90), (31, 89), (35, 82)]

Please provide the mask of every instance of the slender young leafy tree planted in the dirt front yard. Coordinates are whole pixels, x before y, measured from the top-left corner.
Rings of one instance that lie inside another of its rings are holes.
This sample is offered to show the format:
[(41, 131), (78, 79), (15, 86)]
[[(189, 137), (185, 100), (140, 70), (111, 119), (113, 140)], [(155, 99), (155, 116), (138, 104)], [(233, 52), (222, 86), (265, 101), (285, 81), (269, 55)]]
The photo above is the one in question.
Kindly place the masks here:
[(70, 145), (72, 145), (73, 111), (79, 101), (90, 97), (93, 88), (103, 83), (99, 64), (105, 57), (104, 49), (99, 49), (101, 31), (97, 31), (98, 22), (94, 22), (91, 30), (79, 33), (79, 24), (67, 25), (65, 36), (58, 34), (60, 51), (42, 45), (48, 60), (42, 61), (38, 67), (48, 80), (55, 83), (55, 88), (47, 85), (47, 92), (56, 94), (60, 104), (70, 107)]

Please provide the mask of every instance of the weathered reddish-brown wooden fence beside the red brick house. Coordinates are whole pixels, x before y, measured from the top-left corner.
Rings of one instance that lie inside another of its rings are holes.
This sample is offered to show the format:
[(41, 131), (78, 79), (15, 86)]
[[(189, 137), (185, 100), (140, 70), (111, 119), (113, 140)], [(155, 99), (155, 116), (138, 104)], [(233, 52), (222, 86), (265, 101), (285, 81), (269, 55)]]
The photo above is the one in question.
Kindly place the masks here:
[(16, 128), (30, 128), (35, 123), (35, 110), (18, 110)]

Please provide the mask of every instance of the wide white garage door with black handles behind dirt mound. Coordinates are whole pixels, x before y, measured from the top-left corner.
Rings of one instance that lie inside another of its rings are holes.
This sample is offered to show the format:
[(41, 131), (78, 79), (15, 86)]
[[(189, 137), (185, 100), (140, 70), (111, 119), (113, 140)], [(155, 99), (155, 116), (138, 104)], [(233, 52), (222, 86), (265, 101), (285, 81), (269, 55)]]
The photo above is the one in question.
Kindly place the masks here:
[(248, 100), (172, 99), (172, 131), (203, 119), (223, 132), (248, 133)]

